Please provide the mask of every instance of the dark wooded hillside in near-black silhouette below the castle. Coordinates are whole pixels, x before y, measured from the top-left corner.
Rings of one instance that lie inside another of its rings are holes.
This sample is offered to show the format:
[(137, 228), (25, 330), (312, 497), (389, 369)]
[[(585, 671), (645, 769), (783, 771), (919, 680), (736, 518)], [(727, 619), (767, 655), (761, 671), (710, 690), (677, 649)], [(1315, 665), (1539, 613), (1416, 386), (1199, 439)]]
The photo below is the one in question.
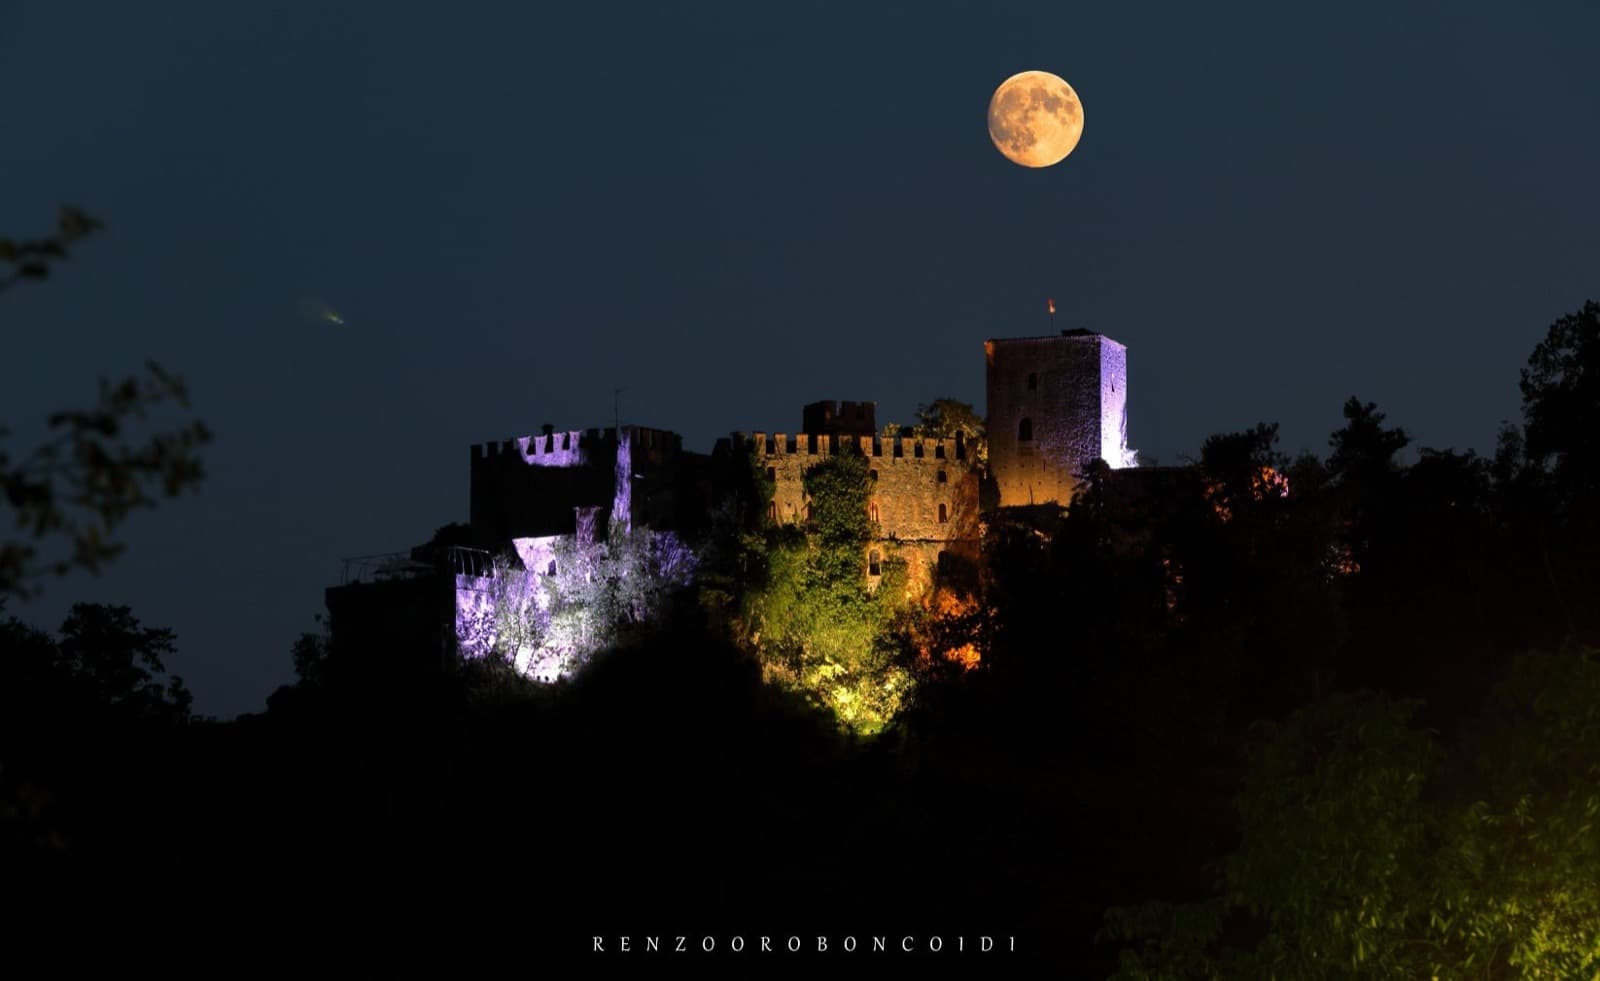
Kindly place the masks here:
[[(1563, 976), (1600, 915), (1600, 842), (1563, 824), (1600, 800), (1600, 306), (1550, 328), (1522, 392), (1490, 454), (1416, 448), (1352, 398), (1325, 454), (1253, 424), (995, 519), (982, 568), (944, 570), (982, 583), (957, 624), (982, 667), (909, 661), (918, 696), (872, 739), (763, 685), (694, 597), (555, 687), (352, 675), (307, 635), (301, 682), (234, 722), (189, 715), (174, 639), (128, 610), (11, 621), (8, 957)], [(597, 959), (597, 935), (722, 952)], [(734, 935), (1022, 952), (741, 960)]]

